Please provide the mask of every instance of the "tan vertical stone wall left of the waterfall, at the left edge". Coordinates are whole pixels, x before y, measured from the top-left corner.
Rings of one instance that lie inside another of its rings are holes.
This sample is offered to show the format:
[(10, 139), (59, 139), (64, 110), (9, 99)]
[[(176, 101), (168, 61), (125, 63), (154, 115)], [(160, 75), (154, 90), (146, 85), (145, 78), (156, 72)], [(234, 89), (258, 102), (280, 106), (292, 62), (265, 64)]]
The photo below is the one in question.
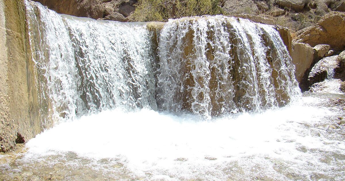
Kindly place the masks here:
[[(0, 0), (0, 143), (6, 152), (51, 124), (41, 124), (23, 0)], [(43, 119), (42, 119), (43, 120)], [(45, 125), (45, 126), (43, 126)]]

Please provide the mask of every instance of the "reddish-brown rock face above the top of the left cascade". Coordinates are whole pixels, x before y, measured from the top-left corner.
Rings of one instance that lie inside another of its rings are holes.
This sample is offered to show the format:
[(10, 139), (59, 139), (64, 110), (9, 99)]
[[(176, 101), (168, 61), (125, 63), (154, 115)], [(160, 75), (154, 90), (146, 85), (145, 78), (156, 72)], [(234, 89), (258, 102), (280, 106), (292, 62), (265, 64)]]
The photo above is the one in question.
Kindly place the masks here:
[(98, 19), (105, 10), (101, 0), (34, 0), (58, 13)]

